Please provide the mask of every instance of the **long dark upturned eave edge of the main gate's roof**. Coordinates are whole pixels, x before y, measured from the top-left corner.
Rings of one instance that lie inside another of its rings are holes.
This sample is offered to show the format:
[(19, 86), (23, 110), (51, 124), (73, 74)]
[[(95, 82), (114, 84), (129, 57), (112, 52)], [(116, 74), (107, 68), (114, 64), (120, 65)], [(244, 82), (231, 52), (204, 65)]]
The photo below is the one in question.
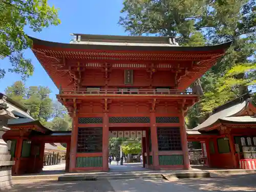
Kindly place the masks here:
[(49, 46), (49, 47), (57, 47), (57, 48), (68, 48), (68, 49), (95, 49), (95, 50), (134, 50), (134, 51), (215, 51), (215, 50), (227, 50), (232, 41), (224, 42), (223, 44), (217, 44), (212, 46), (201, 46), (201, 47), (181, 47), (181, 46), (110, 46), (110, 45), (86, 45), (86, 44), (67, 44), (63, 42), (53, 42), (47, 40), (37, 39), (31, 36), (28, 36), (34, 44)]

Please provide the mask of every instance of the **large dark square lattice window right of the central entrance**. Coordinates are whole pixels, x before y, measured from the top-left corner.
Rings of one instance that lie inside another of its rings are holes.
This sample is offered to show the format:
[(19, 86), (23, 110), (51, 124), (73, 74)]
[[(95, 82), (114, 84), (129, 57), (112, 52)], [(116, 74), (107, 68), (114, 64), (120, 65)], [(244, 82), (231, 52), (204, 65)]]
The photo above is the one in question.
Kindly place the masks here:
[(157, 127), (159, 151), (181, 151), (179, 127)]

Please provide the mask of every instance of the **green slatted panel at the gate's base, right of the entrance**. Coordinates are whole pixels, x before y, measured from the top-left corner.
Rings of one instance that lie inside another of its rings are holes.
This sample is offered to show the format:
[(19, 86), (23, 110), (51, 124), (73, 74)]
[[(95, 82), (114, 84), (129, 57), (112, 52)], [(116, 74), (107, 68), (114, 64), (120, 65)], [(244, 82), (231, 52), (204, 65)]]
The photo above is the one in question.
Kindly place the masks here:
[(160, 155), (159, 165), (183, 165), (183, 155)]

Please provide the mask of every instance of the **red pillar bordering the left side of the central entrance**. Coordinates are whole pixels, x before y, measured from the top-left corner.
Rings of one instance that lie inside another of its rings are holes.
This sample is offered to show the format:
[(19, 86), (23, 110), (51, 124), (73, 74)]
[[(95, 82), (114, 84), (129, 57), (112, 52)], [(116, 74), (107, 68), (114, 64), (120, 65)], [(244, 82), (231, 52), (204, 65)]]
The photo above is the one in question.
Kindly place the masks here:
[(104, 113), (102, 127), (102, 169), (109, 171), (109, 115)]

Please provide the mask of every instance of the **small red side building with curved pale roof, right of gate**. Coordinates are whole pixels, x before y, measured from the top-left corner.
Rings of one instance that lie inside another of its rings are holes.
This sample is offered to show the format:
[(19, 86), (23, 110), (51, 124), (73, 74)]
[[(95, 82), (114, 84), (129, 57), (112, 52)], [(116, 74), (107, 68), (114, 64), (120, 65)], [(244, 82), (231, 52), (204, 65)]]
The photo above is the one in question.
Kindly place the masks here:
[(206, 165), (256, 169), (256, 104), (249, 94), (216, 108), (193, 130), (188, 141), (200, 141)]

